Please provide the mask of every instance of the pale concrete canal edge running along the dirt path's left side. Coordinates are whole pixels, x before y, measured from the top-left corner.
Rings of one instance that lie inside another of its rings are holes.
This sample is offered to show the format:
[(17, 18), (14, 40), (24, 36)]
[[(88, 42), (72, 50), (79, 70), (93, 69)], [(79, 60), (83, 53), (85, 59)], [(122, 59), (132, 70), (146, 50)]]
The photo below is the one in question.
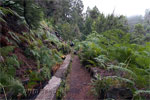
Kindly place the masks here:
[(67, 55), (63, 64), (57, 70), (55, 75), (49, 80), (48, 84), (40, 91), (35, 100), (55, 100), (56, 91), (59, 88), (62, 79), (65, 77), (65, 73), (69, 67), (71, 61), (71, 55)]

